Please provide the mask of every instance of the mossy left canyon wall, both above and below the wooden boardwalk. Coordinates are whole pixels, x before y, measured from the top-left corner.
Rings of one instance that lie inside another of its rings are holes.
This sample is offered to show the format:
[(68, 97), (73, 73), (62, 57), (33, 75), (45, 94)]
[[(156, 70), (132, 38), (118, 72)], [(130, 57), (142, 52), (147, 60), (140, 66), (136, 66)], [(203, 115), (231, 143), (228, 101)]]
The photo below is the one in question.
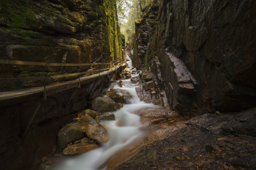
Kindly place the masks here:
[[(113, 0), (1, 0), (0, 59), (93, 63), (122, 59), (121, 35)], [(98, 66), (79, 67), (80, 71)], [(42, 76), (42, 66), (4, 65), (1, 78)], [(45, 76), (77, 72), (77, 67), (45, 67)], [(72, 77), (76, 78), (76, 77)], [(65, 79), (57, 79), (63, 81)], [(99, 96), (106, 77), (47, 96), (25, 136), (42, 94), (0, 103), (0, 169), (29, 169), (57, 148), (57, 132)], [(52, 83), (47, 81), (46, 83)], [(1, 91), (41, 86), (40, 81), (2, 83)], [(65, 104), (75, 92), (67, 107)], [(89, 106), (88, 106), (89, 105)], [(32, 168), (33, 169), (33, 168)], [(34, 168), (36, 169), (36, 168)]]

